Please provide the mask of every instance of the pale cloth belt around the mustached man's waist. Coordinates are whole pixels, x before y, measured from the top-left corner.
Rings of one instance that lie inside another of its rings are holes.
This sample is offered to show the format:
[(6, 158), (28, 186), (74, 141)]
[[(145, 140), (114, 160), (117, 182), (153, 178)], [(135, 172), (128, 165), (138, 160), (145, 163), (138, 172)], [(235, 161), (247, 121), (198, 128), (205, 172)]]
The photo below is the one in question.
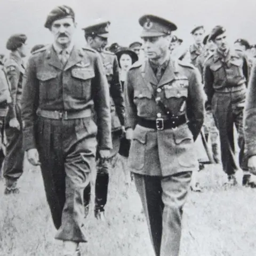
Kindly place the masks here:
[(38, 116), (56, 120), (79, 119), (91, 116), (91, 109), (76, 110), (76, 111), (59, 111), (59, 110), (44, 110), (36, 111)]

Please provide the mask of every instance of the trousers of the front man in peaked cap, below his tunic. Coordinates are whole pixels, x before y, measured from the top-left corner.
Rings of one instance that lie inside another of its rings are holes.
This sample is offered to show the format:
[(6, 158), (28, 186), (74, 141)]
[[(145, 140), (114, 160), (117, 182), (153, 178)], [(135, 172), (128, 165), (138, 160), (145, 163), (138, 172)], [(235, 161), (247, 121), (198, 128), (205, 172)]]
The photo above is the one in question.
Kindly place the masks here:
[(178, 256), (191, 172), (167, 177), (133, 174), (156, 256)]

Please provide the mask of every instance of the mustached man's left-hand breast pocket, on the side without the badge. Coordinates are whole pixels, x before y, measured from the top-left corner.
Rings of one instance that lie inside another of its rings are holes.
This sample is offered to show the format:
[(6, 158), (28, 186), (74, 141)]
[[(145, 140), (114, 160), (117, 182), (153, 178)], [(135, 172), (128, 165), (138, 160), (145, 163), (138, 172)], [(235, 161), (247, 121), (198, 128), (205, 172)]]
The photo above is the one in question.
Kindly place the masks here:
[(36, 74), (39, 81), (39, 95), (42, 100), (55, 99), (58, 97), (57, 76), (57, 73), (47, 71)]

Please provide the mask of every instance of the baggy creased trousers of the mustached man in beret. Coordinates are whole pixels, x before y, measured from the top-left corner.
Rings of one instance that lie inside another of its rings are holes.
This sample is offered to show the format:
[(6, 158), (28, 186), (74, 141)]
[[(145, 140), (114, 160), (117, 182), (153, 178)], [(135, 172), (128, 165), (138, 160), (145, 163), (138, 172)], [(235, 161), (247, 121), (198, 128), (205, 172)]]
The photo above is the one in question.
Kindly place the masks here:
[(39, 117), (36, 143), (56, 239), (86, 242), (84, 189), (95, 169), (97, 126), (89, 118)]

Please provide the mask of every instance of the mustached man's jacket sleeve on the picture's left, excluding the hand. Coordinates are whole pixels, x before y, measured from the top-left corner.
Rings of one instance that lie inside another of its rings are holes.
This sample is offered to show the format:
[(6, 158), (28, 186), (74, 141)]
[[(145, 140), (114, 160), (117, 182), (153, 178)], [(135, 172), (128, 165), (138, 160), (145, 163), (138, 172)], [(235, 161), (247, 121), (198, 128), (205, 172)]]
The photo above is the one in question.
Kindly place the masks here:
[(25, 150), (36, 148), (35, 122), (38, 108), (38, 80), (36, 78), (36, 65), (33, 57), (28, 60), (28, 66), (23, 76), (23, 91), (21, 99), (22, 120), (25, 124), (23, 129), (23, 147)]

